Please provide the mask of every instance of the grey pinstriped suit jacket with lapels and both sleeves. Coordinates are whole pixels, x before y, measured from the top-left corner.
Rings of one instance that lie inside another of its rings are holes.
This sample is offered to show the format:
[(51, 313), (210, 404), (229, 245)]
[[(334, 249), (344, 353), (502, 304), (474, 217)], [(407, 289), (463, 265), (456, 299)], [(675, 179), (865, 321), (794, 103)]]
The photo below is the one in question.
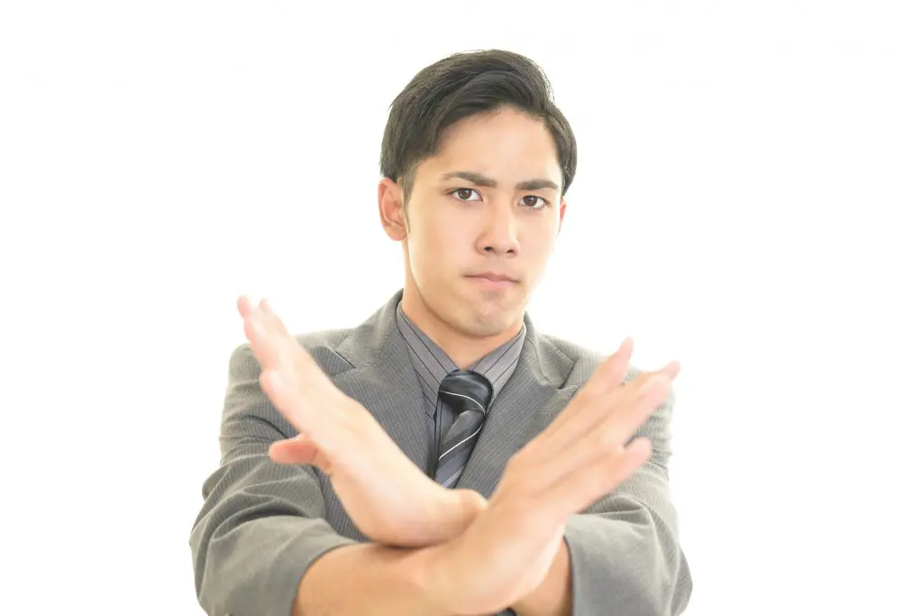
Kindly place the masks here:
[[(395, 323), (402, 291), (354, 329), (298, 340), (333, 382), (366, 408), (426, 472), (426, 417), (420, 384)], [(536, 332), (498, 394), (459, 488), (489, 497), (509, 457), (567, 405), (605, 356)], [(277, 465), (272, 441), (296, 431), (259, 387), (247, 344), (234, 350), (221, 419), (221, 465), (202, 487), (204, 504), (190, 537), (196, 592), (212, 616), (289, 616), (298, 583), (318, 557), (365, 541), (318, 469)], [(638, 376), (630, 368), (627, 380)], [(673, 393), (638, 432), (652, 459), (612, 493), (571, 516), (573, 613), (660, 616), (685, 610), (692, 591), (670, 501), (667, 462)]]

